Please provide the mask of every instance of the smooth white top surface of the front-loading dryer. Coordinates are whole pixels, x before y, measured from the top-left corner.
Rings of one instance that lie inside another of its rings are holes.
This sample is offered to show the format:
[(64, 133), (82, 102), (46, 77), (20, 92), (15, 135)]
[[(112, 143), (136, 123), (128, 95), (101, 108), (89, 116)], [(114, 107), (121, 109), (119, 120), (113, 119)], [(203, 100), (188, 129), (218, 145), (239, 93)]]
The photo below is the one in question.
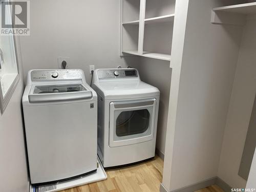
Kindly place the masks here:
[(143, 81), (94, 83), (93, 89), (104, 99), (126, 99), (159, 96), (159, 90)]

